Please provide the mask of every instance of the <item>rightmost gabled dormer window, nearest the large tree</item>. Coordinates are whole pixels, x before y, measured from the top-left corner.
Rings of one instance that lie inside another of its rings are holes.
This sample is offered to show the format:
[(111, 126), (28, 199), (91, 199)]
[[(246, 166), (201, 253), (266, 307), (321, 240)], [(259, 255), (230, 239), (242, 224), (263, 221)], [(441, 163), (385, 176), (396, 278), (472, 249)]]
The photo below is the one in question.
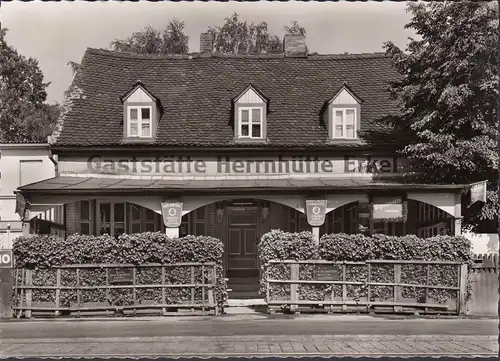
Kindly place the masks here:
[(358, 140), (361, 99), (344, 83), (327, 104), (325, 115), (329, 138), (334, 141)]

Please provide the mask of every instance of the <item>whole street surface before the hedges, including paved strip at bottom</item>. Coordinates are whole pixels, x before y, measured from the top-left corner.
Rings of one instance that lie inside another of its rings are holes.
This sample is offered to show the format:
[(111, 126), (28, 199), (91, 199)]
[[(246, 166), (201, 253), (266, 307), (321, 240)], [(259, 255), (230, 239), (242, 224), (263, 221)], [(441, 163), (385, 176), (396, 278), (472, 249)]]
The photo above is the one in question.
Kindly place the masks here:
[(2, 357), (495, 356), (496, 319), (175, 317), (1, 324)]

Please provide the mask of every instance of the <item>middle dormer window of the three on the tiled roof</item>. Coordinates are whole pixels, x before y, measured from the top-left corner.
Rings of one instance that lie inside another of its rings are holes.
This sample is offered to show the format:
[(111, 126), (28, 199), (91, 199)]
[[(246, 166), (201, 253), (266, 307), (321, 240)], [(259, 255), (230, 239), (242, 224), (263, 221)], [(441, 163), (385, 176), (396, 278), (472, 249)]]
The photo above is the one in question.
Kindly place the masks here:
[(269, 100), (250, 84), (233, 99), (233, 102), (236, 142), (265, 141)]

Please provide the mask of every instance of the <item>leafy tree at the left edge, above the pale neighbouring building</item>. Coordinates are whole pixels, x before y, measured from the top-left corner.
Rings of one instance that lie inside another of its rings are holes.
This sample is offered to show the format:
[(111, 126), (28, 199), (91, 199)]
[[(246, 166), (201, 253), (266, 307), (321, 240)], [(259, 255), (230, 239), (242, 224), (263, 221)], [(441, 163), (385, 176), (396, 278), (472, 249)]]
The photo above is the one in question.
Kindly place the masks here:
[(7, 44), (0, 29), (0, 141), (46, 140), (58, 117), (58, 106), (47, 105), (38, 61)]

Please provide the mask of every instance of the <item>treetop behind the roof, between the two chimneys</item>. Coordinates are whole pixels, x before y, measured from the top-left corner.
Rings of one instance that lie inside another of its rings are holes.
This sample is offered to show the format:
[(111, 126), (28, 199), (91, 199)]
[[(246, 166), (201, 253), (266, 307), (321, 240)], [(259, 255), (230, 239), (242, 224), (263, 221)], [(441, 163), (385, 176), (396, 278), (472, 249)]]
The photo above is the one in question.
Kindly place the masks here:
[[(225, 19), (222, 26), (210, 27), (208, 33), (214, 37), (214, 51), (223, 54), (282, 54), (283, 42), (269, 34), (267, 23), (248, 24), (240, 21), (238, 14), (233, 13)], [(284, 27), (285, 33), (305, 35), (306, 30), (293, 21), (291, 26)]]

